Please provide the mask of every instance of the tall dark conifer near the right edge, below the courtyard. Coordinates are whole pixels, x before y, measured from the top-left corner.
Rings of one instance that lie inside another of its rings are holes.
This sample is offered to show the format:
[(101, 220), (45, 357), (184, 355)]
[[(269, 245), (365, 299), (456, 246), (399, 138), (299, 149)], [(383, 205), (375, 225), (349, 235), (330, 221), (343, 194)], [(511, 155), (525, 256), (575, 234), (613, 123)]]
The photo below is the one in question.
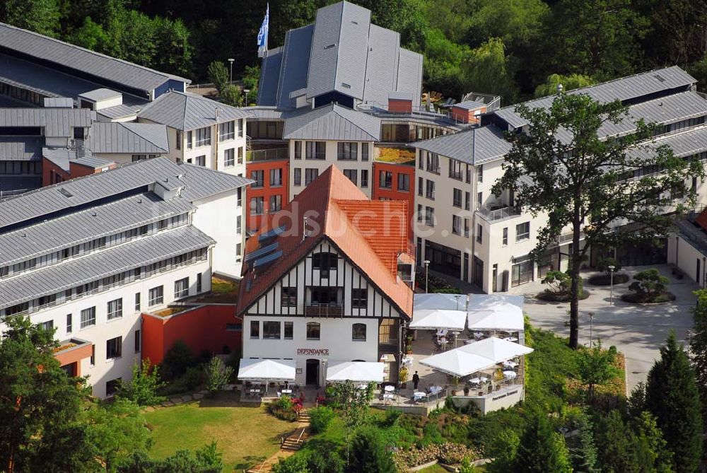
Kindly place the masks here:
[(695, 373), (675, 333), (660, 349), (660, 360), (648, 372), (645, 404), (674, 455), (678, 472), (696, 472), (702, 458), (702, 407)]

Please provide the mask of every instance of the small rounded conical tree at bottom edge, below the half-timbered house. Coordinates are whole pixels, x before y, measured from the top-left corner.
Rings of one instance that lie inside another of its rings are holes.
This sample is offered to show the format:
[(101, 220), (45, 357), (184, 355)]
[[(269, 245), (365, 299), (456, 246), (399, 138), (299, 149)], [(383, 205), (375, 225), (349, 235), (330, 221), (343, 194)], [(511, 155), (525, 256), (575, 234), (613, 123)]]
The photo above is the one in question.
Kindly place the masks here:
[(349, 472), (395, 473), (397, 468), (380, 429), (366, 426), (351, 440)]

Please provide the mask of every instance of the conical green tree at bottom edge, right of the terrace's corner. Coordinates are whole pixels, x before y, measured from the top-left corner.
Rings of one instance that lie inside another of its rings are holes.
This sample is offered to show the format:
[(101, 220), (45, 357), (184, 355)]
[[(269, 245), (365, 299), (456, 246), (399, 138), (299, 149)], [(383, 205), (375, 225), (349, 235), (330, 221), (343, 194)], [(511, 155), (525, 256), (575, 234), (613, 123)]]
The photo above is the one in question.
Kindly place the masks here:
[(513, 472), (522, 473), (571, 473), (565, 440), (553, 431), (546, 414), (534, 414), (534, 419), (520, 437), (518, 453), (513, 462)]

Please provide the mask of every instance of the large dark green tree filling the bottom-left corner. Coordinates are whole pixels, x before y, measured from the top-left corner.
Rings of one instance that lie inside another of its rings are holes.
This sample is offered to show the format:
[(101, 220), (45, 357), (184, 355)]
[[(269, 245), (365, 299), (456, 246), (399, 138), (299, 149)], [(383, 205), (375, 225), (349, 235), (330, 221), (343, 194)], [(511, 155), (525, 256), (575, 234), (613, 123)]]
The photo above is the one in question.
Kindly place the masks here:
[(0, 469), (93, 472), (81, 409), (85, 378), (69, 378), (54, 358), (54, 330), (5, 317), (0, 339)]

